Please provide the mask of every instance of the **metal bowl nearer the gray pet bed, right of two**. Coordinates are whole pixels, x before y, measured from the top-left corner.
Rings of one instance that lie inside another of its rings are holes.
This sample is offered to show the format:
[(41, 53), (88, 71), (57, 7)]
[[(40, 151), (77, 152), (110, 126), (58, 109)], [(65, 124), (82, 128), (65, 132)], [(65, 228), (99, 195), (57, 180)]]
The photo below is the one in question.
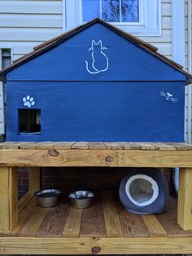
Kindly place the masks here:
[(79, 190), (70, 193), (68, 197), (73, 208), (88, 208), (93, 203), (94, 192)]

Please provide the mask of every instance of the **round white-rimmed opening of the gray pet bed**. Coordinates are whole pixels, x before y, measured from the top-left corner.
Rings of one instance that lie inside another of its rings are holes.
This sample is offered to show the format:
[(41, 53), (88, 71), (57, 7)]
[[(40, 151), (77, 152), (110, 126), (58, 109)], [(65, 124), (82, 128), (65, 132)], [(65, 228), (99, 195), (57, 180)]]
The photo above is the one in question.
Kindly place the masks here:
[(151, 205), (159, 195), (159, 187), (155, 179), (144, 174), (130, 177), (125, 190), (129, 200), (138, 206)]

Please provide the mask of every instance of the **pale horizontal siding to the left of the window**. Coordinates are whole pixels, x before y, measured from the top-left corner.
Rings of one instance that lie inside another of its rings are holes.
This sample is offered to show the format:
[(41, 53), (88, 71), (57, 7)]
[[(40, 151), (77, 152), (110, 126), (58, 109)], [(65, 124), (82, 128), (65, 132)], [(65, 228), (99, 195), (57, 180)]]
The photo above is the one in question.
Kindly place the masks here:
[(62, 0), (0, 1), (0, 47), (13, 60), (63, 32)]

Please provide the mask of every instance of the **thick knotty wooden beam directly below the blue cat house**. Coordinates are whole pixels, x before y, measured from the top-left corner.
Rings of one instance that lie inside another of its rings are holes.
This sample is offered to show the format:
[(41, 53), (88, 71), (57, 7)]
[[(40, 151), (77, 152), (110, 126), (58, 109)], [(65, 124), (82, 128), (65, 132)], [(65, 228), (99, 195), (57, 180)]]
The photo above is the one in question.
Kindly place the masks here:
[(192, 151), (1, 149), (1, 166), (192, 167)]

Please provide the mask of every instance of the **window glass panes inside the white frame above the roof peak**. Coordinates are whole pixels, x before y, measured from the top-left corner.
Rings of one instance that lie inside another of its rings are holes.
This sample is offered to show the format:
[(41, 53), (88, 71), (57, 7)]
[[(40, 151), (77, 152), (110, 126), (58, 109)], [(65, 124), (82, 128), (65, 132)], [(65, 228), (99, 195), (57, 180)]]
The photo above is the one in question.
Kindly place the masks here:
[(139, 22), (139, 0), (82, 0), (83, 22), (96, 17), (107, 22)]

